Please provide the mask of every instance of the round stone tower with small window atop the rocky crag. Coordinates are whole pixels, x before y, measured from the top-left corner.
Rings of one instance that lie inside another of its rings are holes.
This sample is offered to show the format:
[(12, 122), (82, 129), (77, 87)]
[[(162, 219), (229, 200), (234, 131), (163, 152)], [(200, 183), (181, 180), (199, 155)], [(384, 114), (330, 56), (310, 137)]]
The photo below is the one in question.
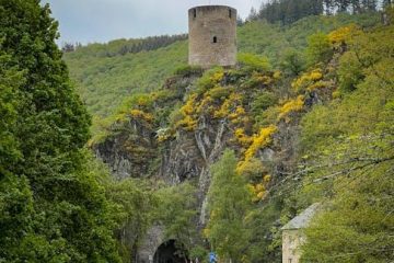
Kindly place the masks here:
[(236, 10), (225, 5), (192, 8), (189, 65), (234, 66), (236, 62)]

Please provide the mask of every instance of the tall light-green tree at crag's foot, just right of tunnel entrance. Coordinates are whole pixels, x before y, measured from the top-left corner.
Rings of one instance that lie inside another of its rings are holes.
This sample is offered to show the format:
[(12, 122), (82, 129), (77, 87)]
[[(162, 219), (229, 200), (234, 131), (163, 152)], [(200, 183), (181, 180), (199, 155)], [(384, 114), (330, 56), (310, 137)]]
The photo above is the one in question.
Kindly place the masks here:
[(236, 162), (234, 152), (225, 150), (212, 167), (208, 193), (210, 216), (205, 232), (222, 259), (240, 262), (247, 247), (248, 230), (244, 217), (252, 197), (245, 178), (235, 172)]

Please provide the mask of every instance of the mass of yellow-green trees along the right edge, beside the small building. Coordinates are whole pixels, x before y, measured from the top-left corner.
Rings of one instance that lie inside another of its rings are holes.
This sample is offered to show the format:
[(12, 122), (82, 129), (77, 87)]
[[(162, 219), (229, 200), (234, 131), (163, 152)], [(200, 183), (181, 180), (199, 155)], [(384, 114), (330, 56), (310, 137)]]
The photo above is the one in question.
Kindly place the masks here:
[(302, 122), (308, 175), (298, 202), (320, 201), (324, 208), (305, 231), (302, 262), (393, 260), (394, 60), (383, 55), (394, 50), (385, 41), (392, 35), (385, 26), (356, 36), (339, 68), (341, 84), (357, 89)]

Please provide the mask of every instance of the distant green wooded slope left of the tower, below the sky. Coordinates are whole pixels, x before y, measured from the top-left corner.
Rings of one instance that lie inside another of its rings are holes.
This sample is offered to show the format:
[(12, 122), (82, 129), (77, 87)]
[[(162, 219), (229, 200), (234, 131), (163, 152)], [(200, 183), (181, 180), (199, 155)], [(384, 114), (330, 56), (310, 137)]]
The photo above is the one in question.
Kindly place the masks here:
[(88, 56), (93, 46), (65, 54), (70, 76), (93, 115), (112, 115), (130, 94), (159, 89), (187, 61), (187, 43), (116, 57)]

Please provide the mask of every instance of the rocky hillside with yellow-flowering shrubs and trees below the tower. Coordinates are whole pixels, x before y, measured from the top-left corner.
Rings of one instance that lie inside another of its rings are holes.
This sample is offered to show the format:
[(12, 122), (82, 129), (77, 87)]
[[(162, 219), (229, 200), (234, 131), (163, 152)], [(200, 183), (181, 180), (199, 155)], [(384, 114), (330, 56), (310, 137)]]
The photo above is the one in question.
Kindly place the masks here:
[[(281, 262), (281, 227), (320, 203), (304, 262), (390, 262), (394, 46), (381, 39), (394, 32), (369, 25), (314, 24), (305, 48), (275, 64), (241, 54), (233, 69), (183, 67), (128, 96), (90, 145), (120, 184), (149, 185), (124, 245), (144, 259), (176, 237), (179, 252), (204, 259), (209, 240), (234, 262)], [(240, 35), (265, 26), (275, 28), (254, 22)]]

